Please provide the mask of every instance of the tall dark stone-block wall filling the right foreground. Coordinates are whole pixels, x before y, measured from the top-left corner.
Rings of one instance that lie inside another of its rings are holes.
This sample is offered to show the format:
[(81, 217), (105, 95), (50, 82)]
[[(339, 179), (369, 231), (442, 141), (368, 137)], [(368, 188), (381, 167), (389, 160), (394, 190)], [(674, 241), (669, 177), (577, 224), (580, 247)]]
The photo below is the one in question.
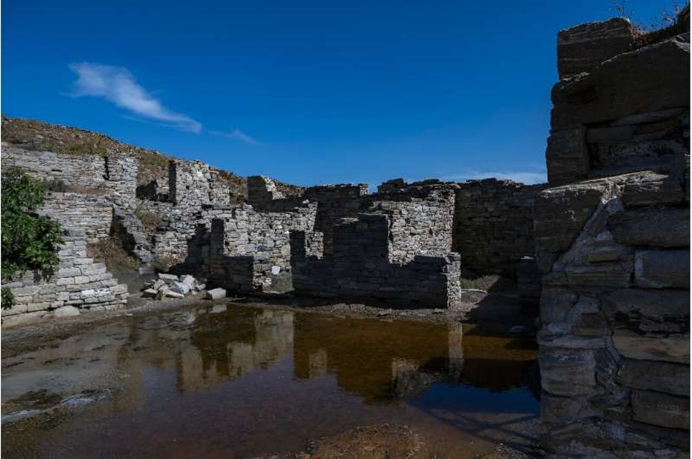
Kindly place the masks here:
[(610, 23), (558, 40), (552, 187), (535, 220), (544, 446), (687, 457), (689, 34), (629, 51), (629, 23)]

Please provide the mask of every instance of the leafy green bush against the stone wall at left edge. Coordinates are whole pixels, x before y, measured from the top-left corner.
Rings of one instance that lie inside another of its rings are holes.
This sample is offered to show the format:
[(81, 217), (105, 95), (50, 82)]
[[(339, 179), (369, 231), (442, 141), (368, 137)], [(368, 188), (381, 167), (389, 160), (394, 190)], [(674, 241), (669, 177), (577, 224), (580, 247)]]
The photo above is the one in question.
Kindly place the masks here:
[[(46, 198), (44, 184), (11, 168), (2, 176), (2, 277), (26, 270), (53, 272), (63, 242), (58, 222), (36, 213)], [(3, 302), (4, 306), (4, 302)]]

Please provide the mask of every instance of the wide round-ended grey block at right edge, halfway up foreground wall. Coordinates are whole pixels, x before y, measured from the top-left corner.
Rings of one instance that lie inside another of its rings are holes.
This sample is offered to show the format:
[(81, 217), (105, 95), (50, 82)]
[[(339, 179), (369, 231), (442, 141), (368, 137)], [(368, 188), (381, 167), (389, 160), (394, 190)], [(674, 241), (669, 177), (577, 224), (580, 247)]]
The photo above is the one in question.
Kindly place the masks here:
[(608, 217), (608, 229), (620, 244), (689, 247), (689, 209), (625, 210)]

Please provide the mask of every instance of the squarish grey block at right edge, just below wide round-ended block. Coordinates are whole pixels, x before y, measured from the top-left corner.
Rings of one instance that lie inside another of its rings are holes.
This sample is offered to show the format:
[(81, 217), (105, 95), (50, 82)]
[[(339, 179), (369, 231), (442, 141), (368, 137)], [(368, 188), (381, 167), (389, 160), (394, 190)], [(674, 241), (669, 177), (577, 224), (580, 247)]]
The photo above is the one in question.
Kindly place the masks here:
[(634, 282), (655, 289), (690, 288), (689, 250), (639, 250), (634, 261)]

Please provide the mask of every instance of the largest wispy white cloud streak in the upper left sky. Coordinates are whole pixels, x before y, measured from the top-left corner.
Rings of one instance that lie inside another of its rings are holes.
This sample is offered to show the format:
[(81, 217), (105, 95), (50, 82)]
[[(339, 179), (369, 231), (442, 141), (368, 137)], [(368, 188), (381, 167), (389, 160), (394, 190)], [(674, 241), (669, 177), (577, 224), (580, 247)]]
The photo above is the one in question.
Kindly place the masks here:
[(165, 108), (137, 84), (127, 68), (84, 62), (71, 64), (70, 70), (77, 74), (72, 96), (103, 97), (120, 108), (169, 127), (197, 133), (202, 131), (202, 123)]

